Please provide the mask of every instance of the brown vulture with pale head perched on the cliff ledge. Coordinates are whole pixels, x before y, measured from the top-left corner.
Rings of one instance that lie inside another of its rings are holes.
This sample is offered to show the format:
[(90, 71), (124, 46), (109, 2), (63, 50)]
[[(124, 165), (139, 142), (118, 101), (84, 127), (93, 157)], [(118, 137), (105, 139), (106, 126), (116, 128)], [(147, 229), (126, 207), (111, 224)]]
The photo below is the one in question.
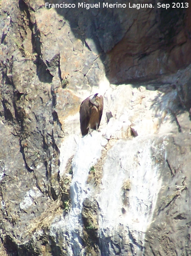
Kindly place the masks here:
[[(98, 130), (104, 108), (103, 96), (98, 93), (87, 97), (79, 109), (80, 129), (82, 135), (91, 134), (91, 129)], [(92, 135), (92, 134), (91, 134)]]

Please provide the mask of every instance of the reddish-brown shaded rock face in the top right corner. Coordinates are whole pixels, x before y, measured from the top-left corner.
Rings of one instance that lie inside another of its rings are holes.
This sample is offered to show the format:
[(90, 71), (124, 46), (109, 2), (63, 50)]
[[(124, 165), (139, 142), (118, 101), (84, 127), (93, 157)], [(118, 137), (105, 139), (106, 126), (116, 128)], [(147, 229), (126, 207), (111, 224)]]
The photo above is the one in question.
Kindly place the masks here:
[(140, 8), (130, 15), (128, 10), (128, 30), (109, 53), (112, 83), (151, 83), (157, 78), (172, 83), (170, 75), (190, 64), (191, 7), (171, 8), (171, 3), (170, 8), (157, 8), (159, 2), (150, 2), (154, 8)]

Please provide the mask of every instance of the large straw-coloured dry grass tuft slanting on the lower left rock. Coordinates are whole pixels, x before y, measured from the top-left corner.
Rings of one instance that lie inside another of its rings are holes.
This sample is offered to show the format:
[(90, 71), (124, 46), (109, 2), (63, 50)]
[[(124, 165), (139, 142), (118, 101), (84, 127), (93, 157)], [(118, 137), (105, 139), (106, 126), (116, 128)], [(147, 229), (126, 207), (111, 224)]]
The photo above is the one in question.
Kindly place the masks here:
[(61, 206), (61, 200), (53, 201), (39, 217), (31, 221), (28, 233), (33, 234), (37, 230), (48, 229), (52, 224), (54, 218), (63, 214), (63, 209), (61, 208)]

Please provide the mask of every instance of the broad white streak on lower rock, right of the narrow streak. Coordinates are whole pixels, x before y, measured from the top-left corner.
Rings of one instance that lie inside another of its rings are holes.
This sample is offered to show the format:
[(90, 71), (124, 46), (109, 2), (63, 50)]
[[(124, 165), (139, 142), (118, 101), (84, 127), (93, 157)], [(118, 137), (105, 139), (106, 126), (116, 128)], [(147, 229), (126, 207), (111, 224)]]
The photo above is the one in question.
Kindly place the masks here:
[[(161, 188), (157, 166), (151, 158), (151, 140), (134, 138), (117, 142), (108, 152), (102, 178), (99, 228), (104, 233), (124, 225), (137, 243), (144, 241)], [(128, 205), (124, 206), (122, 187), (129, 180)], [(122, 208), (125, 213), (122, 213)], [(130, 236), (129, 236), (130, 238)], [(142, 244), (142, 247), (144, 244)], [(139, 253), (139, 248), (135, 248)]]

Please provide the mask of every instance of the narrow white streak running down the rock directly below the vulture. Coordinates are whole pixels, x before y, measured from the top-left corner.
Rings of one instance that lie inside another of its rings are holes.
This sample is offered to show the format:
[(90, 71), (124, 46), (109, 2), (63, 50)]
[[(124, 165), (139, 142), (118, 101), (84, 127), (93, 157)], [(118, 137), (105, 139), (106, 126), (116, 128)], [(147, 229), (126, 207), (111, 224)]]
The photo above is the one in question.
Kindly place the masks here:
[(77, 147), (76, 154), (72, 162), (73, 179), (71, 182), (71, 202), (72, 208), (68, 218), (67, 230), (70, 238), (70, 255), (81, 255), (82, 221), (81, 211), (83, 201), (90, 192), (86, 181), (89, 169), (97, 163), (101, 156), (103, 146), (107, 140), (100, 132), (92, 132), (91, 135), (83, 137)]

